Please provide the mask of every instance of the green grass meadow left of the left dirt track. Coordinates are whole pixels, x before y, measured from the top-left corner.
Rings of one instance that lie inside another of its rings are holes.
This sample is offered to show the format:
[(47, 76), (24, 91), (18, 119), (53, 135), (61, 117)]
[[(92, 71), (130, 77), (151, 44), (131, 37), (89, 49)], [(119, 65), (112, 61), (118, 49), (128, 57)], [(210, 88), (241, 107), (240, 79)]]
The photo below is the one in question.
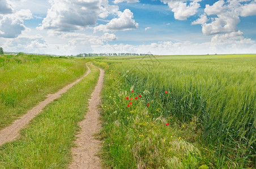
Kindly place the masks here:
[(86, 71), (84, 59), (0, 56), (0, 130)]

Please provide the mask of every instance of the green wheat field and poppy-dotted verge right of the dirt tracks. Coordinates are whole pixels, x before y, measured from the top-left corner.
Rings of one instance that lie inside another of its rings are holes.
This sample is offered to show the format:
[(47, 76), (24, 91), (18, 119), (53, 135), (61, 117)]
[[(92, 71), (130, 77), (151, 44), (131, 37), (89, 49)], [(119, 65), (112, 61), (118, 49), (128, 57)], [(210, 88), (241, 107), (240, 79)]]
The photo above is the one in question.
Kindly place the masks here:
[(106, 167), (255, 167), (256, 57), (199, 57), (96, 61)]

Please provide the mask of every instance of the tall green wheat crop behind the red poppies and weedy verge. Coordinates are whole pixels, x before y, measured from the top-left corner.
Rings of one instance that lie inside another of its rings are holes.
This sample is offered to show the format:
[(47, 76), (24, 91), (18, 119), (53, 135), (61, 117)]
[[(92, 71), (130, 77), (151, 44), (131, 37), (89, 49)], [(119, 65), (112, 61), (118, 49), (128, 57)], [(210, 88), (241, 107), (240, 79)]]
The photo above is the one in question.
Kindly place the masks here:
[(202, 147), (202, 161), (217, 168), (255, 166), (255, 57), (108, 62), (122, 75), (120, 90), (144, 91), (152, 119), (197, 123), (201, 139), (190, 141)]

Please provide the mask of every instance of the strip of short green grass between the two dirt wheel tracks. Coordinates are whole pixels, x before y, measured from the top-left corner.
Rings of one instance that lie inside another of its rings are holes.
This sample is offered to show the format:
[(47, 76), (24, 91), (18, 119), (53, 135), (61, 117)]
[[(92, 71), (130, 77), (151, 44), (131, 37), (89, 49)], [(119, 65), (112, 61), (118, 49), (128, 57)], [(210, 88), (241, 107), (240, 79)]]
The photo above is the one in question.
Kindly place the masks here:
[(46, 106), (21, 138), (0, 147), (0, 168), (67, 168), (71, 147), (87, 110), (88, 98), (99, 78), (99, 69), (75, 84), (66, 94)]

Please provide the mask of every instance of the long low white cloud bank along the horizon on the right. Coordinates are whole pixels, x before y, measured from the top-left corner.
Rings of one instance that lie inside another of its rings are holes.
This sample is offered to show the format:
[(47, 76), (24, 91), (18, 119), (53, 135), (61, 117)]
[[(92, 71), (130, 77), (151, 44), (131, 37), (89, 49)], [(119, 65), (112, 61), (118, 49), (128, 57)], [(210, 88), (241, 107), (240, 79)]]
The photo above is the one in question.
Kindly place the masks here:
[(211, 42), (194, 43), (191, 41), (163, 41), (148, 45), (103, 45), (92, 46), (94, 52), (100, 53), (137, 53), (155, 55), (206, 55), (206, 54), (237, 54), (256, 52), (256, 44), (251, 39), (244, 38), (241, 32), (215, 35)]

